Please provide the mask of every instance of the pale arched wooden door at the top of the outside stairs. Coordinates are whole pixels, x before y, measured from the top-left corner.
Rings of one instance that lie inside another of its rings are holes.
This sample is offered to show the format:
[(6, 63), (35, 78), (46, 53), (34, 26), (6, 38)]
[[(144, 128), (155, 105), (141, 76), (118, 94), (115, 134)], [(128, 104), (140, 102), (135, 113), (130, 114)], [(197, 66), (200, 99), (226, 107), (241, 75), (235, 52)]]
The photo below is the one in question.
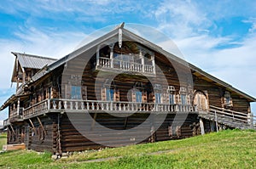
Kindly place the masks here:
[(194, 105), (197, 105), (198, 110), (208, 110), (207, 95), (201, 91), (195, 92)]

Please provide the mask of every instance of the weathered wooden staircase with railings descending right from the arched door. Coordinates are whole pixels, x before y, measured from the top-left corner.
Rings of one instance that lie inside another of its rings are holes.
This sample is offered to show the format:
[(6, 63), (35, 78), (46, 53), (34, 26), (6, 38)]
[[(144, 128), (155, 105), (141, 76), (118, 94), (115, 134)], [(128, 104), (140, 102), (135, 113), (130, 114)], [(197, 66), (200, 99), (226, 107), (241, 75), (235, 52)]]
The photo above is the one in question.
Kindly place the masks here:
[(247, 116), (245, 113), (226, 110), (215, 106), (210, 106), (208, 111), (199, 111), (199, 116), (209, 121), (216, 121), (218, 124), (223, 124), (227, 127), (239, 129), (256, 129), (253, 127), (253, 117)]

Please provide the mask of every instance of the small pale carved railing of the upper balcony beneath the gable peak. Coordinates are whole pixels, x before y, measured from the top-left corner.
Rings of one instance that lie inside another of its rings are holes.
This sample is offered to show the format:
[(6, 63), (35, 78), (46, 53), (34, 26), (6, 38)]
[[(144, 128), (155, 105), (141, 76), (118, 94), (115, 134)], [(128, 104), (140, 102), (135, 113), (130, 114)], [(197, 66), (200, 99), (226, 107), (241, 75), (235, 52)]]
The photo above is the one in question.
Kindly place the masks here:
[(97, 68), (107, 68), (113, 70), (125, 70), (138, 73), (146, 73), (154, 75), (154, 66), (153, 65), (143, 65), (136, 62), (124, 61), (120, 59), (108, 59), (100, 58)]

